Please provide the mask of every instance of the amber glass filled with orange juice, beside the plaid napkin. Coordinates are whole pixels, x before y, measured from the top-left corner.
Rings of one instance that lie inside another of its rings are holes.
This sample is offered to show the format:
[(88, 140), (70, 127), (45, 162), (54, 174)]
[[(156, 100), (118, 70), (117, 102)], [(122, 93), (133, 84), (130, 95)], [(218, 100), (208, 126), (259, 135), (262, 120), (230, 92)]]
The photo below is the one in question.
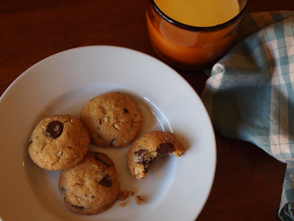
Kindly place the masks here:
[(148, 0), (151, 45), (166, 64), (201, 70), (225, 55), (250, 0)]

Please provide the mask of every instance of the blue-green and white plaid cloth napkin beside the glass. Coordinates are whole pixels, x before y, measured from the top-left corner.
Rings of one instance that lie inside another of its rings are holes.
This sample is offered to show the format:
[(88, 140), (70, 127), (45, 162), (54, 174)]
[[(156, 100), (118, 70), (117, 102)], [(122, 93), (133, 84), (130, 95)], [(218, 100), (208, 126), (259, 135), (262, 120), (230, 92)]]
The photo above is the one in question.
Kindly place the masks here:
[(294, 220), (294, 11), (247, 14), (201, 94), (214, 129), (287, 163), (279, 216)]

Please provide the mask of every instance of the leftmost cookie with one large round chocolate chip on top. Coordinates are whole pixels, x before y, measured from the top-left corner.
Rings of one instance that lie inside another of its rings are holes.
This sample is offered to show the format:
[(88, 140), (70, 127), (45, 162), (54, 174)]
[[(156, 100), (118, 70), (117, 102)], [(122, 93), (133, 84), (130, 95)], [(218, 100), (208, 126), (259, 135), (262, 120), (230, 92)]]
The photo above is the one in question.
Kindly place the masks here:
[(89, 145), (89, 133), (77, 117), (54, 115), (36, 125), (28, 151), (32, 161), (41, 168), (61, 170), (78, 164)]

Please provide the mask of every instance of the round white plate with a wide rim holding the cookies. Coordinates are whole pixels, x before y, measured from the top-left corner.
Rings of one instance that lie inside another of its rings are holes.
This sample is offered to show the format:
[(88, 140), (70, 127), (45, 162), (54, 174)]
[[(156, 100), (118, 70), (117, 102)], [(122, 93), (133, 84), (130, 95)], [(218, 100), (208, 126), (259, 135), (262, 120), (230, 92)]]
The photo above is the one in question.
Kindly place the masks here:
[[(196, 77), (196, 76), (195, 76)], [(70, 212), (58, 192), (59, 171), (46, 171), (29, 158), (29, 137), (43, 117), (79, 116), (91, 98), (108, 91), (128, 94), (143, 113), (139, 136), (173, 133), (186, 152), (153, 162), (145, 180), (126, 167), (128, 147), (90, 148), (114, 162), (128, 197), (109, 210), (86, 216)], [(134, 50), (88, 46), (52, 55), (26, 70), (0, 98), (0, 217), (15, 220), (187, 220), (196, 219), (210, 193), (216, 167), (211, 121), (193, 88), (164, 63)]]

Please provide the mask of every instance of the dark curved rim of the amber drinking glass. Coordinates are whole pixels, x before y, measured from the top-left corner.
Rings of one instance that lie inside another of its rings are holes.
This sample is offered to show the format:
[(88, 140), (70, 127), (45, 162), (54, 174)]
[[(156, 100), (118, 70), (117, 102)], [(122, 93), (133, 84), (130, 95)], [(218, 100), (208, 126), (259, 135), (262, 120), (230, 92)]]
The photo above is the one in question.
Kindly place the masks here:
[(167, 16), (163, 11), (161, 11), (161, 9), (159, 9), (159, 7), (156, 5), (156, 3), (154, 2), (154, 0), (149, 0), (149, 2), (151, 3), (151, 5), (153, 6), (153, 8), (156, 10), (156, 12), (163, 17), (163, 19), (165, 19), (167, 22), (180, 27), (182, 29), (186, 29), (188, 31), (215, 31), (215, 30), (220, 30), (223, 28), (226, 28), (228, 26), (230, 26), (231, 24), (237, 22), (240, 17), (242, 17), (243, 14), (246, 13), (248, 6), (249, 6), (249, 2), (250, 0), (246, 0), (246, 4), (243, 7), (243, 9), (232, 19), (228, 20), (227, 22), (224, 22), (222, 24), (217, 24), (214, 26), (208, 26), (208, 27), (198, 27), (198, 26), (192, 26), (192, 25), (188, 25), (188, 24), (184, 24), (181, 22), (176, 21), (175, 19), (172, 19), (171, 17)]

